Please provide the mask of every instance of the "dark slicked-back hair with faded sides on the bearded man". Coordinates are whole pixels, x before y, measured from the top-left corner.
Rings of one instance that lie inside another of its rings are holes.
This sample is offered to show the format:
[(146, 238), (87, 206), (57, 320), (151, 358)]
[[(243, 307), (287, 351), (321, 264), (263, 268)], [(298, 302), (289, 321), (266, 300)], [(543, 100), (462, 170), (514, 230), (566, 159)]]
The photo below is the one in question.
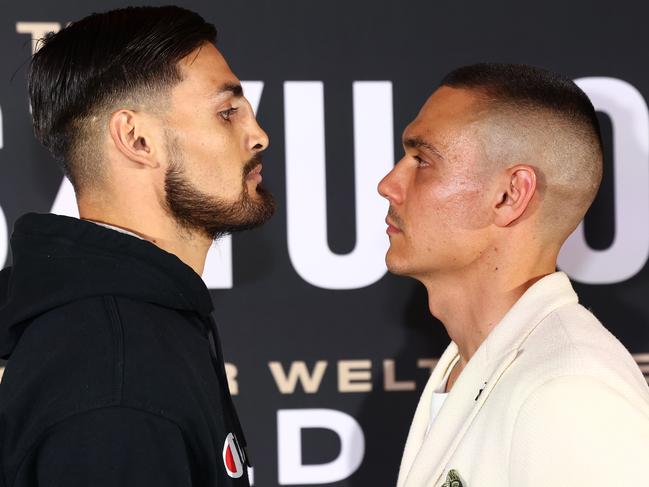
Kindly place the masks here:
[(162, 108), (178, 61), (208, 42), (215, 27), (175, 6), (95, 13), (41, 40), (28, 73), (34, 133), (77, 192), (100, 178), (110, 111)]

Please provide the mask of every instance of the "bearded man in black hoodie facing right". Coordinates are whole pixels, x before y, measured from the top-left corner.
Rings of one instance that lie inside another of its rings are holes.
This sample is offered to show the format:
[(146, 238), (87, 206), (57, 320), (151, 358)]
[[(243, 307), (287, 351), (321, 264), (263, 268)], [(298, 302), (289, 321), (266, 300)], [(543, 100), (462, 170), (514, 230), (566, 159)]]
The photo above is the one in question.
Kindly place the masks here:
[(0, 274), (2, 485), (248, 485), (200, 275), (274, 205), (268, 138), (215, 38), (193, 12), (126, 8), (33, 58), (35, 133), (81, 219), (20, 218)]

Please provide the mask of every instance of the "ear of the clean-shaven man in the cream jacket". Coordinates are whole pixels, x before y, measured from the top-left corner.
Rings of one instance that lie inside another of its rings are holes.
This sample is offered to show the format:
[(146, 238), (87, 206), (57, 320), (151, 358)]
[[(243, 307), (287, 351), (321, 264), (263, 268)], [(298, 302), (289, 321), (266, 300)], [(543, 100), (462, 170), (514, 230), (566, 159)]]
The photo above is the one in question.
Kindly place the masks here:
[(525, 213), (536, 192), (536, 172), (527, 165), (517, 165), (507, 170), (494, 205), (494, 223), (506, 227)]

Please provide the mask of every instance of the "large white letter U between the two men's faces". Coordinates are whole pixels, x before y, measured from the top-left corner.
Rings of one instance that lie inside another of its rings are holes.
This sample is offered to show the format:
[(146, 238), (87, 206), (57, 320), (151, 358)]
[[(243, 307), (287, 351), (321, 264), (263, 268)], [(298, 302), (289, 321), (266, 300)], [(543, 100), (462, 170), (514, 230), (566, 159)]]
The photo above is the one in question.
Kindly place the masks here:
[(353, 90), (356, 246), (337, 255), (327, 244), (323, 85), (284, 83), (288, 252), (300, 277), (325, 289), (369, 286), (386, 272), (387, 202), (376, 186), (394, 165), (392, 83), (357, 81)]

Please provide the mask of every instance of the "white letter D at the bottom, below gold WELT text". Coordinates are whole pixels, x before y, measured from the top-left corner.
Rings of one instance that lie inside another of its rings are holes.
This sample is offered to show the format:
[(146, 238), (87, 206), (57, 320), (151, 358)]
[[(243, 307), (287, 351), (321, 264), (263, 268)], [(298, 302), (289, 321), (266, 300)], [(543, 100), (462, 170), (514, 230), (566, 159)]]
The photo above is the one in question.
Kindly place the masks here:
[[(319, 465), (302, 463), (302, 430), (323, 428), (340, 438), (338, 457)], [(365, 436), (349, 414), (334, 409), (280, 409), (277, 411), (277, 447), (280, 485), (328, 484), (346, 479), (363, 462)]]

